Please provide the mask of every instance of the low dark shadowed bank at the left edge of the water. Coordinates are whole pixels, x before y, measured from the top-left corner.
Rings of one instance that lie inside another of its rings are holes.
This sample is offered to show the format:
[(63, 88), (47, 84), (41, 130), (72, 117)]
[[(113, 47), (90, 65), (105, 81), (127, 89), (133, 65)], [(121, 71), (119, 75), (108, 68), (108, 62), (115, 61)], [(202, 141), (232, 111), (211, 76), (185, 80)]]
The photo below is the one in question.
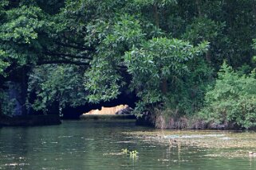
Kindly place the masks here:
[(59, 115), (0, 116), (0, 126), (51, 126), (60, 125)]

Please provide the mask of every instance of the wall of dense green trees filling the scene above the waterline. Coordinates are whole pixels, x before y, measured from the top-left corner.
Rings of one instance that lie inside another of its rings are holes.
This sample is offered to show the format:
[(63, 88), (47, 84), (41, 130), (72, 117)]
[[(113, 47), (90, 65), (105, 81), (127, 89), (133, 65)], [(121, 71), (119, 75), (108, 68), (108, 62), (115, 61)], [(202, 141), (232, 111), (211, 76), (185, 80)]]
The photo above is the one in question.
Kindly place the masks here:
[[(135, 92), (138, 115), (206, 106), (209, 121), (254, 126), (255, 30), (255, 0), (2, 0), (0, 112), (61, 112)], [(226, 77), (244, 95), (223, 98)]]

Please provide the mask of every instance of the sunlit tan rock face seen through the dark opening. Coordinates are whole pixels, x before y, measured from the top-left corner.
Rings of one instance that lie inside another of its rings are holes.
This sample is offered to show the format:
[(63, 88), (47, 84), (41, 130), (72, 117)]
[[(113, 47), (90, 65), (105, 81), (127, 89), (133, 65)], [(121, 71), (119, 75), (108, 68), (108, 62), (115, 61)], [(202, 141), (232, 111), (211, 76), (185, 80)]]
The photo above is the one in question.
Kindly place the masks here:
[(131, 114), (132, 108), (128, 105), (119, 105), (113, 107), (104, 107), (102, 106), (100, 110), (90, 110), (86, 115), (89, 114)]

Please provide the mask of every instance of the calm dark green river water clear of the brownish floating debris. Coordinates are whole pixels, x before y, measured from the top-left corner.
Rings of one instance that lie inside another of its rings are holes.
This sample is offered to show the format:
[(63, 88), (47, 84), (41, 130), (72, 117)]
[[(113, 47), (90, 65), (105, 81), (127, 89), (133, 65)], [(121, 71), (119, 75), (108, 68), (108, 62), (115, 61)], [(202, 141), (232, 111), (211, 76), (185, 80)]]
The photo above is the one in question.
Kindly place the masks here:
[[(132, 134), (147, 131), (155, 129), (134, 122), (65, 121), (60, 126), (2, 127), (0, 169), (256, 169), (256, 156), (247, 153), (230, 156), (222, 149), (170, 147), (156, 138), (150, 141)], [(138, 154), (130, 156), (122, 149)]]

